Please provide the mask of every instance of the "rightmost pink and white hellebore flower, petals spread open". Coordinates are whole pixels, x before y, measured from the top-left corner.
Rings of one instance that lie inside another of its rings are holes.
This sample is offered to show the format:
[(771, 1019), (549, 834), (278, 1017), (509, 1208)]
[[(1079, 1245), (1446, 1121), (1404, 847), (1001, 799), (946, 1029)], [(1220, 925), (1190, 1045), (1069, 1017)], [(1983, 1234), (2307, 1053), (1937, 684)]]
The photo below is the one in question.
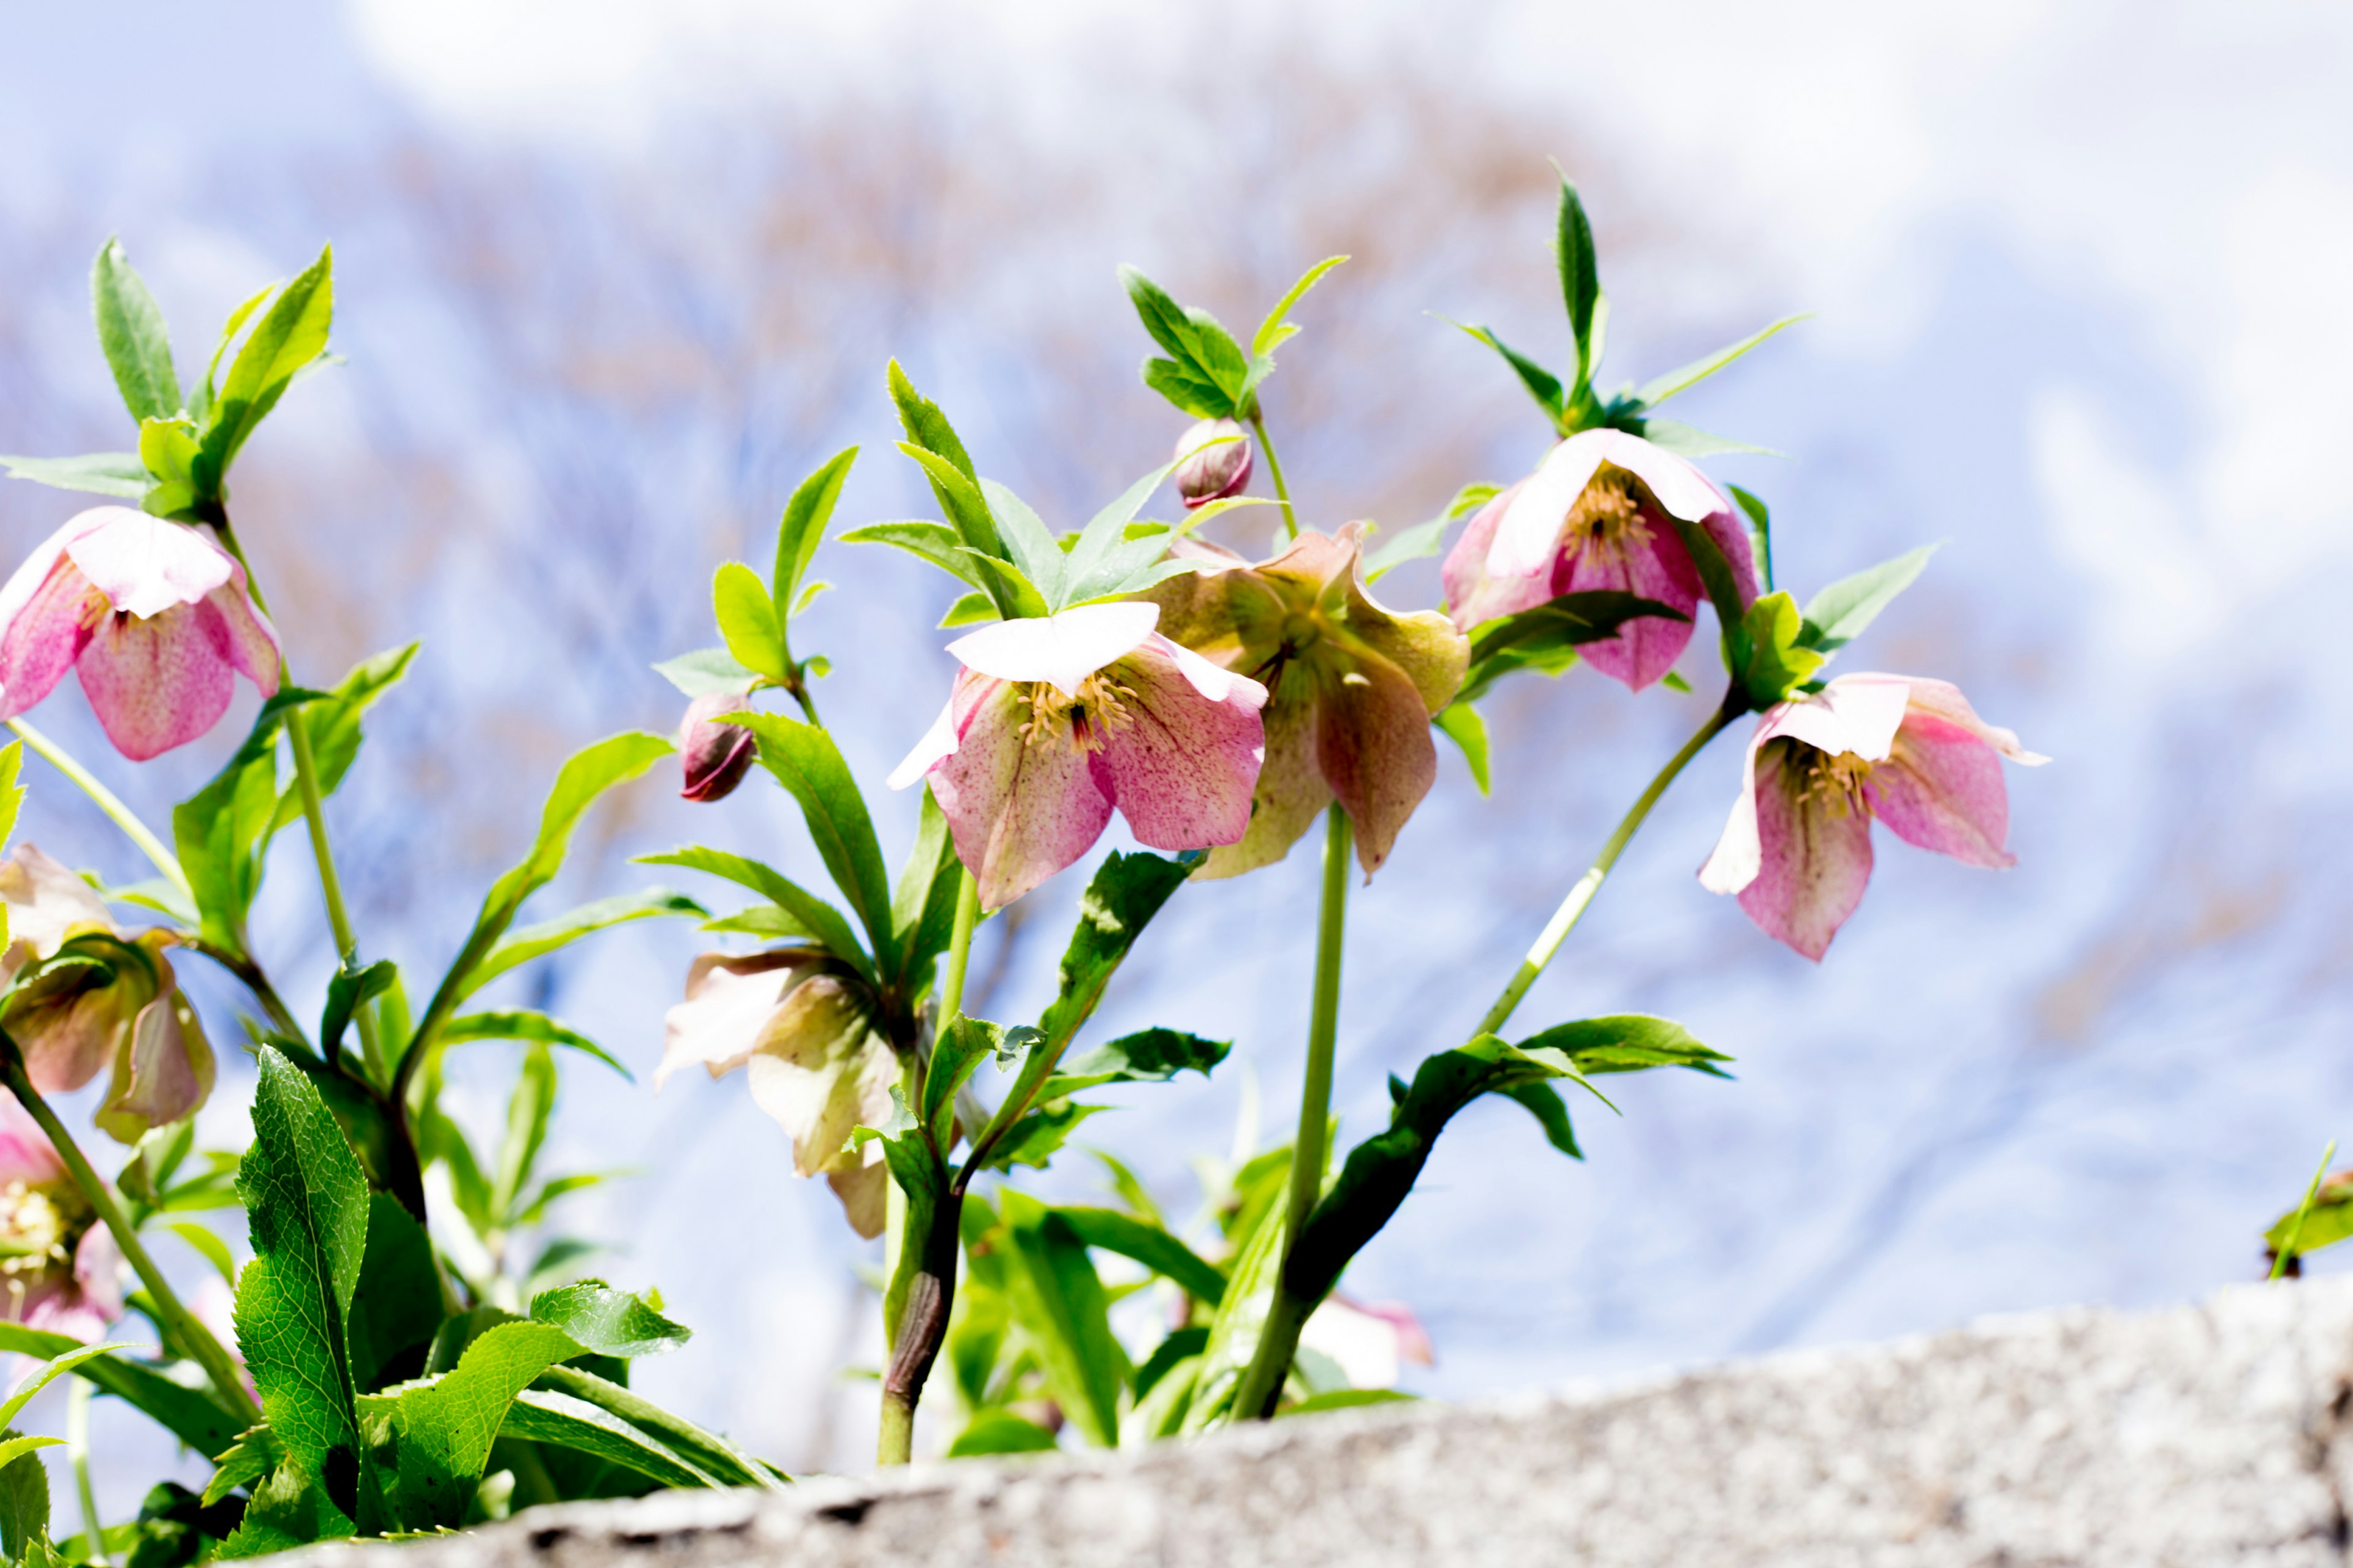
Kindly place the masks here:
[(1758, 719), (1741, 797), (1699, 884), (1739, 893), (1765, 936), (1819, 961), (1871, 882), (1871, 818), (1965, 865), (2017, 863), (2002, 846), (2002, 757), (2049, 762), (1979, 719), (1958, 686), (1840, 675)]

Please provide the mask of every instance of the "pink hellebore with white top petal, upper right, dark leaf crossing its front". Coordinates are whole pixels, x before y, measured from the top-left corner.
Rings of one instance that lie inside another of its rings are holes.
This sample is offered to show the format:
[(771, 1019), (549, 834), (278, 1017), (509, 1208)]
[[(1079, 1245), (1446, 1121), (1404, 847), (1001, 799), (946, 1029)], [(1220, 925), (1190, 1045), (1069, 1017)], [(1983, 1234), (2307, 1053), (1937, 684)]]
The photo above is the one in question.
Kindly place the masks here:
[[(1758, 597), (1748, 527), (1732, 501), (1673, 451), (1624, 430), (1581, 430), (1537, 473), (1482, 505), (1445, 564), (1447, 609), (1466, 632), (1565, 592), (1614, 588), (1689, 616), (1706, 583), (1673, 517), (1706, 529), (1746, 609)], [(1689, 621), (1638, 616), (1579, 654), (1635, 691), (1675, 668)]]

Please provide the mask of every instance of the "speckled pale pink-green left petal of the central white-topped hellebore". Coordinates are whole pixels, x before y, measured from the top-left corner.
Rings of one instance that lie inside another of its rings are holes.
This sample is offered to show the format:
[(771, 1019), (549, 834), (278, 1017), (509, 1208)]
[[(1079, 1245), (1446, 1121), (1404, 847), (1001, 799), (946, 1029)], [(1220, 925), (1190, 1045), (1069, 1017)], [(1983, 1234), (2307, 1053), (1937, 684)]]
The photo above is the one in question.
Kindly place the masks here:
[(981, 884), (981, 907), (1000, 910), (1094, 846), (1111, 795), (1066, 731), (1024, 741), (1031, 705), (1009, 684), (965, 670), (951, 708), (962, 733), (932, 766), (932, 799)]

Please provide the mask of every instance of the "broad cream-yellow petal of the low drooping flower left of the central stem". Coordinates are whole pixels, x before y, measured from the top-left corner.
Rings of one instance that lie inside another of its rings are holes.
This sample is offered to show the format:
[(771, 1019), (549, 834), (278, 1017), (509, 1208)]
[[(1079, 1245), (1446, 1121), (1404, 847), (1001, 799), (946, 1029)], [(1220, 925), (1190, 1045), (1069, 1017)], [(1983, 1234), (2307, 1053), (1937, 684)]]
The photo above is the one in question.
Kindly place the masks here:
[(753, 1105), (793, 1138), (793, 1171), (816, 1175), (856, 1126), (889, 1121), (899, 1058), (838, 976), (793, 987), (746, 1067)]

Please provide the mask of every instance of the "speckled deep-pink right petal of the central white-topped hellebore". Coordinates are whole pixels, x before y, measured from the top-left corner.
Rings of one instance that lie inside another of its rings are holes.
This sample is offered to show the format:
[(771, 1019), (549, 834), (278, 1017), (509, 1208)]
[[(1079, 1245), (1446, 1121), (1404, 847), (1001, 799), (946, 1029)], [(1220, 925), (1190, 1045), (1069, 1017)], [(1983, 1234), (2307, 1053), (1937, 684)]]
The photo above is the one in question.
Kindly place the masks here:
[(1153, 632), (1120, 661), (1129, 722), (1108, 726), (1094, 773), (1139, 842), (1212, 849), (1249, 830), (1266, 759), (1266, 686)]

